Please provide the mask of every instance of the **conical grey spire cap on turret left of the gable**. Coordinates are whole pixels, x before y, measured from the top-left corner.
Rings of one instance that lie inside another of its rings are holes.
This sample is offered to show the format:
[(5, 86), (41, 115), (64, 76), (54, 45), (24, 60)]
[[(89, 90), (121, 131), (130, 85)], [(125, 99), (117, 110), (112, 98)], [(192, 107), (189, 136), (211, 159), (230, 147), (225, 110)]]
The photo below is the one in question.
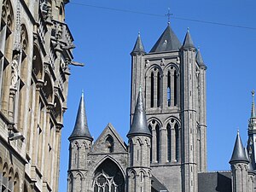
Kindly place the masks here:
[(86, 118), (85, 104), (84, 104), (84, 90), (82, 91), (82, 96), (79, 103), (79, 111), (77, 114), (76, 123), (73, 128), (73, 132), (71, 136), (68, 137), (68, 140), (72, 140), (75, 138), (87, 138), (90, 141), (93, 140), (93, 138), (90, 136), (90, 131), (87, 125), (87, 118)]

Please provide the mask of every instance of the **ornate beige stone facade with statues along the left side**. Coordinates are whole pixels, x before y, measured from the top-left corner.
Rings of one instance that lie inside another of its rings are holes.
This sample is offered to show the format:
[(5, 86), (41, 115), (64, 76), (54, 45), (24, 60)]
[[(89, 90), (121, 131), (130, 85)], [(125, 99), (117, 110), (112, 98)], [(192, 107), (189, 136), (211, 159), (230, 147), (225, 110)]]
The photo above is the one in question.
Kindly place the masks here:
[(0, 1), (0, 191), (58, 191), (68, 0)]

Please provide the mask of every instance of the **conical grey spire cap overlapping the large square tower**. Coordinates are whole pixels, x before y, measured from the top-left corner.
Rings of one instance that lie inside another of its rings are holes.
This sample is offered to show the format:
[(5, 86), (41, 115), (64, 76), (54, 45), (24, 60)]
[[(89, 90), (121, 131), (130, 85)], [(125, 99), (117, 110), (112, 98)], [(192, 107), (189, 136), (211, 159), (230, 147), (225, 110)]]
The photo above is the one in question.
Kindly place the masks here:
[(131, 137), (131, 136), (151, 137), (151, 132), (148, 129), (146, 113), (143, 108), (143, 96), (142, 96), (141, 88), (137, 96), (137, 104), (135, 107), (135, 113), (133, 115), (131, 129), (127, 134), (127, 137)]

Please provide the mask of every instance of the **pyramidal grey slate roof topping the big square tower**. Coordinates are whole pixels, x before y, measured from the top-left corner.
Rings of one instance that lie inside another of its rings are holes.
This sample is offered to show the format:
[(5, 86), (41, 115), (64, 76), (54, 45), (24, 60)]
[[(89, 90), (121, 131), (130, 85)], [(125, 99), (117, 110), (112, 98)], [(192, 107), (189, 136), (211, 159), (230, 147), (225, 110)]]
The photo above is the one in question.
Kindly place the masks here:
[(161, 34), (156, 44), (154, 44), (154, 47), (150, 50), (150, 53), (172, 51), (172, 50), (178, 50), (180, 48), (181, 48), (180, 41), (178, 40), (175, 33), (172, 31), (171, 26), (168, 25), (166, 27), (165, 32)]

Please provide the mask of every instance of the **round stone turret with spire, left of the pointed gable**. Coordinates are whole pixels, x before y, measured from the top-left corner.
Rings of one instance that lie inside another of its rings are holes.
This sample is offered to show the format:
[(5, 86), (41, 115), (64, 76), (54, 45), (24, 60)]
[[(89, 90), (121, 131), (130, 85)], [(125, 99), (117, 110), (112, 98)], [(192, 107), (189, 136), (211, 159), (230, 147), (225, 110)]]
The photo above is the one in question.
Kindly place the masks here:
[(71, 136), (68, 138), (69, 166), (67, 171), (67, 192), (82, 191), (86, 183), (88, 172), (87, 158), (93, 138), (87, 125), (84, 105), (84, 93), (82, 93), (76, 123)]

